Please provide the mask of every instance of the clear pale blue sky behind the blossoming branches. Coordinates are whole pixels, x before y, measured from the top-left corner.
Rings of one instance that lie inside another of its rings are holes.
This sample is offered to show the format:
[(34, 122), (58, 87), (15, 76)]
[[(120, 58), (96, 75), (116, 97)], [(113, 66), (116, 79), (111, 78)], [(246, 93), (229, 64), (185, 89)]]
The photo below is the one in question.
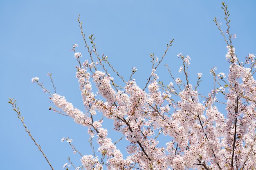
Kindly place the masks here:
[[(72, 44), (78, 44), (81, 60), (88, 59), (83, 47), (78, 15), (83, 31), (88, 37), (95, 35), (99, 54), (108, 56), (110, 63), (121, 75), (129, 78), (136, 67), (137, 84), (144, 87), (150, 75), (150, 53), (161, 57), (166, 44), (175, 39), (163, 63), (168, 64), (175, 76), (181, 76), (177, 54), (189, 55), (191, 83), (201, 72), (200, 90), (207, 94), (211, 89), (213, 66), (217, 72), (227, 72), (225, 41), (213, 22), (218, 17), (225, 30), (224, 14), (220, 0), (189, 1), (100, 1), (100, 0), (10, 0), (0, 2), (0, 160), (1, 169), (49, 170), (50, 167), (7, 103), (16, 98), (25, 123), (41, 145), (55, 169), (61, 169), (71, 157), (76, 166), (80, 157), (74, 155), (63, 136), (74, 140), (78, 150), (86, 154), (87, 129), (71, 118), (49, 111), (52, 105), (48, 95), (31, 78), (53, 92), (49, 77), (52, 72), (56, 92), (67, 98), (75, 107), (83, 109), (79, 86), (75, 78), (77, 64)], [(256, 54), (256, 17), (254, 0), (227, 0), (230, 11), (231, 33), (237, 38), (233, 43), (238, 58), (248, 53)], [(168, 84), (171, 77), (164, 65), (157, 74)], [(113, 75), (115, 77), (115, 75)], [(182, 77), (182, 76), (181, 76)], [(194, 84), (195, 85), (195, 84)]]

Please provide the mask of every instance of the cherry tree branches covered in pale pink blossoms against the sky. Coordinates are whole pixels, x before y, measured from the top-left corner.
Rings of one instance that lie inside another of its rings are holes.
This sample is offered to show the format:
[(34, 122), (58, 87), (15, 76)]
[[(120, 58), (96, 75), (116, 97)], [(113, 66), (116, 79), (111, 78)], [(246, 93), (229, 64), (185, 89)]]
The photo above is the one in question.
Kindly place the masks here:
[[(92, 147), (93, 154), (81, 154), (71, 144), (72, 139), (64, 137), (62, 141), (66, 140), (74, 152), (81, 155), (82, 166), (76, 167), (70, 161), (63, 168), (69, 169), (70, 166), (74, 166), (77, 170), (255, 169), (255, 56), (248, 54), (244, 62), (238, 59), (232, 45), (232, 39), (236, 38), (236, 35), (229, 32), (229, 11), (224, 2), (222, 9), (227, 29), (222, 31), (218, 18), (215, 18), (214, 22), (227, 42), (226, 60), (229, 63), (229, 73), (217, 73), (216, 68), (210, 70), (214, 83), (208, 96), (202, 96), (198, 92), (201, 73), (198, 73), (197, 83), (190, 84), (188, 68), (191, 59), (182, 53), (177, 57), (182, 61), (179, 72), (184, 73), (184, 79), (175, 78), (166, 65), (171, 81), (165, 85), (159, 80), (156, 70), (172, 46), (173, 40), (167, 44), (162, 57), (150, 54), (152, 72), (145, 86), (139, 87), (132, 78), (136, 68), (132, 68), (129, 78), (119, 75), (108, 61), (108, 57), (97, 53), (94, 35), (89, 36), (88, 43), (83, 33), (82, 22), (78, 18), (81, 35), (90, 56), (82, 62), (81, 52), (76, 52), (78, 45), (73, 45), (74, 57), (78, 61), (76, 78), (85, 110), (74, 108), (64, 96), (55, 93), (51, 73), (47, 75), (51, 78), (54, 93), (49, 92), (39, 82), (38, 77), (32, 78), (32, 82), (40, 85), (56, 106), (50, 107), (50, 110), (70, 116), (76, 123), (88, 129), (88, 145)], [(115, 77), (109, 74), (109, 69), (115, 73)], [(116, 84), (114, 78), (123, 81), (124, 86)], [(218, 96), (224, 96), (224, 100), (220, 101)], [(10, 99), (9, 103), (23, 122), (19, 109), (16, 109), (15, 100)], [(218, 109), (219, 104), (225, 106), (225, 111)], [(106, 119), (113, 121), (112, 129), (115, 133), (121, 134), (119, 140), (113, 141), (108, 137), (108, 129), (103, 126)], [(23, 125), (25, 126), (24, 122)], [(25, 128), (31, 136), (26, 126)], [(168, 140), (165, 146), (159, 145), (160, 135)], [(32, 136), (31, 138), (34, 140)], [(128, 142), (128, 145), (124, 146), (127, 151), (125, 154), (116, 146), (117, 143), (124, 141)], [(44, 157), (46, 158), (45, 155)], [(48, 160), (47, 162), (49, 163)]]

